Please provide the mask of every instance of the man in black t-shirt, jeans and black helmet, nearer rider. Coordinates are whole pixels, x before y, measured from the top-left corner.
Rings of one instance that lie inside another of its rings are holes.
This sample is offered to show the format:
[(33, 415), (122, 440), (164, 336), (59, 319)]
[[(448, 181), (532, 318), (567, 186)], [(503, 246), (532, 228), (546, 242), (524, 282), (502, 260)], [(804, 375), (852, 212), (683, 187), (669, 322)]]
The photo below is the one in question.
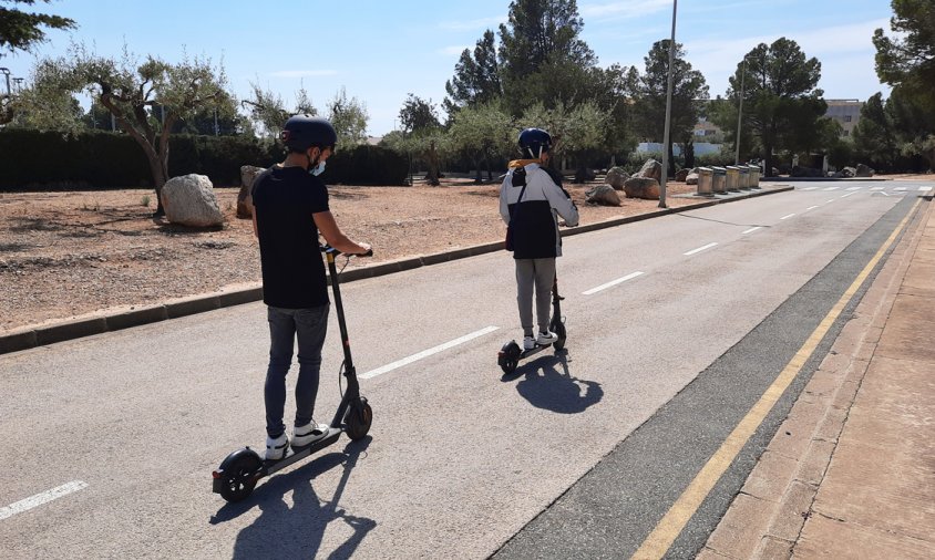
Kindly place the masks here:
[(338, 142), (331, 123), (296, 115), (286, 122), (280, 137), (288, 149), (286, 159), (253, 185), (254, 232), (259, 239), (270, 338), (264, 401), (266, 459), (271, 460), (285, 457), (289, 447), (282, 416), (296, 340), (299, 373), (291, 445), (305, 447), (328, 433), (327, 424), (312, 419), (330, 309), (318, 236), (345, 253), (370, 250), (341, 232), (328, 207), (328, 187), (318, 177)]

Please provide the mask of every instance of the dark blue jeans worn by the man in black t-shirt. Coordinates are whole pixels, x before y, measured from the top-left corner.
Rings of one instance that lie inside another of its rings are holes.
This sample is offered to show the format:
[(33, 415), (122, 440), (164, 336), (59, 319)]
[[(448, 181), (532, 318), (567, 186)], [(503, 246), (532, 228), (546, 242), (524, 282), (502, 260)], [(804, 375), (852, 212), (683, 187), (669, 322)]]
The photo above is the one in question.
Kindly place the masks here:
[(299, 378), (296, 381), (296, 426), (311, 422), (318, 376), (321, 369), (321, 348), (328, 331), (330, 304), (310, 309), (267, 307), (269, 320), (269, 367), (266, 370), (264, 400), (266, 402), (266, 433), (278, 437), (286, 432), (282, 415), (286, 407), (286, 374), (292, 363), (294, 343), (299, 341)]

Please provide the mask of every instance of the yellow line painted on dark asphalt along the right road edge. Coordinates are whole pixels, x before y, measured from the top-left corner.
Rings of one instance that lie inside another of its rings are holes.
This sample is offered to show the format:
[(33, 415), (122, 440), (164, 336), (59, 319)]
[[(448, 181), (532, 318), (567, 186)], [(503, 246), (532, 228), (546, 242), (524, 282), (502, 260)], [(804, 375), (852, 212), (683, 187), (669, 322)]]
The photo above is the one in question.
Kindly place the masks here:
[(695, 511), (701, 506), (701, 502), (705, 501), (705, 498), (708, 497), (708, 494), (711, 492), (711, 488), (718, 483), (725, 471), (730, 467), (733, 459), (740, 453), (753, 433), (760, 427), (763, 419), (767, 417), (769, 412), (775, 405), (777, 401), (782, 396), (799, 372), (802, 370), (802, 366), (805, 365), (805, 362), (809, 357), (814, 353), (815, 348), (818, 348), (821, 340), (828, 334), (828, 331), (831, 329), (831, 325), (834, 324), (834, 321), (838, 320), (838, 317), (851, 302), (854, 294), (860, 290), (861, 286), (863, 286), (864, 281), (866, 281), (870, 273), (883, 258), (883, 255), (890, 249), (890, 247), (896, 241), (896, 238), (906, 227), (906, 224), (912, 219), (915, 215), (916, 209), (922, 200), (916, 200), (915, 205), (910, 210), (908, 215), (903, 219), (903, 221), (893, 230), (893, 234), (890, 235), (890, 238), (886, 239), (886, 242), (876, 251), (876, 255), (867, 262), (866, 267), (857, 274), (857, 278), (851, 283), (850, 288), (844, 292), (838, 303), (831, 308), (831, 311), (824, 317), (822, 322), (812, 331), (812, 334), (802, 344), (802, 348), (795, 352), (795, 355), (792, 356), (792, 360), (785, 365), (779, 376), (773, 381), (772, 385), (767, 388), (763, 395), (757, 401), (757, 404), (750, 408), (750, 412), (740, 421), (740, 424), (733, 428), (733, 432), (727, 436), (725, 443), (721, 444), (720, 448), (715, 453), (715, 455), (708, 459), (708, 463), (701, 468), (698, 475), (691, 480), (691, 484), (688, 485), (688, 488), (679, 496), (678, 500), (672, 504), (672, 507), (666, 512), (665, 517), (659, 521), (653, 532), (643, 541), (643, 545), (639, 547), (639, 550), (633, 556), (636, 559), (656, 559), (662, 558), (666, 552), (668, 552), (669, 547), (672, 546), (676, 538), (681, 533), (685, 526), (688, 523), (688, 520), (691, 519), (691, 516), (695, 515)]

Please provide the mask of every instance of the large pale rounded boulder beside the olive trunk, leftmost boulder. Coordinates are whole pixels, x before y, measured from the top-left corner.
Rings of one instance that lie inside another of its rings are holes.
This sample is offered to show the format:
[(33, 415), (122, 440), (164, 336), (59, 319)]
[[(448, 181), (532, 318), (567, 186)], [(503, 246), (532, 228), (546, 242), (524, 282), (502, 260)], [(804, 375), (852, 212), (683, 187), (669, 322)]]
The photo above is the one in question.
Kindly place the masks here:
[(165, 218), (172, 224), (194, 228), (224, 224), (214, 186), (205, 175), (193, 173), (168, 179), (163, 186), (162, 203)]

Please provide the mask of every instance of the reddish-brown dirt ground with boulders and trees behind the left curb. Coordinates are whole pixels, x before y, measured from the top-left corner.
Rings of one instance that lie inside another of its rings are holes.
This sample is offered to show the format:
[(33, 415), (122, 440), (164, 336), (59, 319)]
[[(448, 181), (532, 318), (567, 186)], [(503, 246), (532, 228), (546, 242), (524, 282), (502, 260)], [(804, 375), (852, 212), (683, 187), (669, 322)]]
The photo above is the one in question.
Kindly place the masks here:
[[(931, 177), (931, 176), (929, 176)], [(625, 198), (620, 207), (585, 203), (590, 185), (566, 186), (582, 224), (658, 209)], [(669, 206), (692, 204), (669, 183)], [(367, 266), (499, 241), (499, 185), (450, 180), (441, 187), (330, 187), (331, 210), (351, 239), (373, 246)], [(223, 228), (154, 220), (151, 190), (0, 193), (0, 334), (260, 282), (249, 220), (236, 217), (237, 188), (216, 188)]]

